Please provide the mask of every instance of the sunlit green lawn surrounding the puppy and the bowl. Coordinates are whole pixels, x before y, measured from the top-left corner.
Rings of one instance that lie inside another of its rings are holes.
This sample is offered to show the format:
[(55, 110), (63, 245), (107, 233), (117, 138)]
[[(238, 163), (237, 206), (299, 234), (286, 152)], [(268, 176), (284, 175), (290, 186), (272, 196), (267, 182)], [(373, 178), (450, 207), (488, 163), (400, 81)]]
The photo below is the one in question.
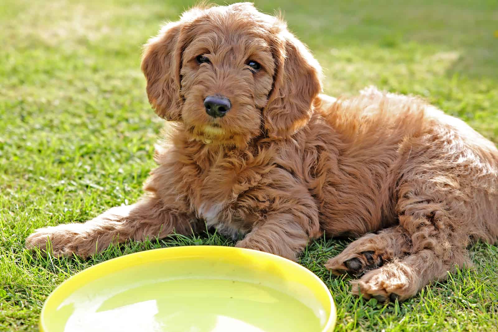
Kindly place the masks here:
[[(498, 143), (496, 0), (257, 1), (280, 7), (321, 62), (325, 91), (366, 85), (420, 94)], [(35, 228), (84, 222), (133, 202), (154, 167), (162, 126), (147, 104), (141, 45), (186, 4), (170, 1), (0, 3), (0, 331), (36, 331), (64, 279), (121, 254), (232, 245), (215, 235), (113, 247), (90, 260), (31, 256)], [(383, 306), (350, 295), (323, 263), (347, 242), (319, 240), (301, 263), (330, 287), (337, 331), (497, 331), (498, 247), (471, 249), (474, 270)]]

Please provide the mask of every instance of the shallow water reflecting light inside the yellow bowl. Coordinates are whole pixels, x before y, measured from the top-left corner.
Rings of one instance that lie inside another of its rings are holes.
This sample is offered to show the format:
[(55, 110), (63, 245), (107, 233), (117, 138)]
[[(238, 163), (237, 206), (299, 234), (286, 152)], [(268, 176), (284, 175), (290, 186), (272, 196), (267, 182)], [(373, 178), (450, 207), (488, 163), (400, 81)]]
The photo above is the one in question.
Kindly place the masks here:
[(49, 319), (49, 331), (312, 332), (323, 327), (323, 308), (312, 310), (261, 282), (195, 273), (164, 278), (171, 276), (170, 268), (166, 274), (160, 266), (142, 266), (92, 281), (59, 305), (58, 322)]

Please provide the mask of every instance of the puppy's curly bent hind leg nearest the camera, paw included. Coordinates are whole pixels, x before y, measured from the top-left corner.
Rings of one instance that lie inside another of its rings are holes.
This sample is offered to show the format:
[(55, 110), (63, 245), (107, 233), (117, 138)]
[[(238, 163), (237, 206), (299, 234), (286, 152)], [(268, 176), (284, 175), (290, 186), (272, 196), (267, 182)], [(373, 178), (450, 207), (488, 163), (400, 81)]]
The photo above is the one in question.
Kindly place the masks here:
[(444, 192), (436, 185), (426, 186), (401, 187), (397, 212), (400, 226), (410, 236), (409, 255), (352, 281), (355, 294), (381, 302), (403, 301), (431, 281), (446, 279), (457, 266), (472, 265), (466, 249), (469, 223), (462, 219), (469, 207), (460, 200), (458, 189)]

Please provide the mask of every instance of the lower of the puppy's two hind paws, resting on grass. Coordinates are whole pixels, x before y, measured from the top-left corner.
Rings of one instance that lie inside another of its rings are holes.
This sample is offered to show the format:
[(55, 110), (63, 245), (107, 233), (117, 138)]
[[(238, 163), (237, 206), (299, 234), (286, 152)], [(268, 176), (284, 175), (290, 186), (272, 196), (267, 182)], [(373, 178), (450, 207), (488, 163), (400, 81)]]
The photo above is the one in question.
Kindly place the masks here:
[(400, 263), (390, 263), (352, 280), (352, 293), (380, 303), (404, 301), (417, 293), (417, 280), (411, 270)]

